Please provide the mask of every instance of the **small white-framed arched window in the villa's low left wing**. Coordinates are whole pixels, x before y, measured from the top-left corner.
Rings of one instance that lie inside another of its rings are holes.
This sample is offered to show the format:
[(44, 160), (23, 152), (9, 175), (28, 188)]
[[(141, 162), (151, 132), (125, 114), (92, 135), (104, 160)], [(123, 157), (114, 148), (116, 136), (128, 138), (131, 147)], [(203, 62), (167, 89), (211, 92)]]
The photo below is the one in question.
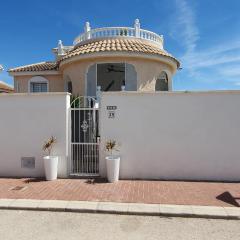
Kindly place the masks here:
[(41, 76), (32, 77), (28, 81), (28, 92), (48, 92), (48, 80)]

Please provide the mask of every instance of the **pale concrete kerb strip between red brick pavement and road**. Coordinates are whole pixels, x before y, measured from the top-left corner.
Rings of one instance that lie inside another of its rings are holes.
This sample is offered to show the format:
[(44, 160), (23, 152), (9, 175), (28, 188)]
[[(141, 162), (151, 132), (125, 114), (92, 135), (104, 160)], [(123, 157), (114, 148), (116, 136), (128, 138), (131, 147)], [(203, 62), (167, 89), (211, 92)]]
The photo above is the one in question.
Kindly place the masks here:
[(0, 209), (240, 219), (239, 208), (195, 205), (0, 199)]

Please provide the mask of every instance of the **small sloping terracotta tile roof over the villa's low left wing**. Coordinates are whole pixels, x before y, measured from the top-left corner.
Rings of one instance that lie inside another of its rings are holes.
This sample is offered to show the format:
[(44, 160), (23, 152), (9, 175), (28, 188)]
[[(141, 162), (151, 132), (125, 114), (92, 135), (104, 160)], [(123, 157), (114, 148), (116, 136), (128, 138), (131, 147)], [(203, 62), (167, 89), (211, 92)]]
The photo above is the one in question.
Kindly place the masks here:
[(8, 72), (38, 72), (49, 70), (58, 70), (58, 64), (56, 62), (40, 62), (17, 68), (11, 68), (8, 70)]

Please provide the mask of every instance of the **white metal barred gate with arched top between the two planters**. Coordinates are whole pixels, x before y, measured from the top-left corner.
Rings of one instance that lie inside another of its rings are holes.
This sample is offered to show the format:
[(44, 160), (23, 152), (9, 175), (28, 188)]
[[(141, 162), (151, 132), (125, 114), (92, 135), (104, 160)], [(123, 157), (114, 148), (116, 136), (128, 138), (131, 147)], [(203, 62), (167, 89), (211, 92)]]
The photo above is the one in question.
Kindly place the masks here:
[(99, 175), (99, 104), (94, 97), (71, 103), (71, 174)]

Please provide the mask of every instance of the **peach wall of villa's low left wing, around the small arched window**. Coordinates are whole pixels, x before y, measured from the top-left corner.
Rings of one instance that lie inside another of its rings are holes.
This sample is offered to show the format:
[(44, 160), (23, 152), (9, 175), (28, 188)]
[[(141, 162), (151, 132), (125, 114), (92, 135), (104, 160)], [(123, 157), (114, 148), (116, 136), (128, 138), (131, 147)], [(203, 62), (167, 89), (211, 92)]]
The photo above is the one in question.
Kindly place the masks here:
[[(14, 77), (14, 89), (19, 93), (28, 92), (28, 82), (35, 75), (24, 75)], [(46, 78), (49, 82), (49, 92), (64, 92), (64, 81), (62, 75), (37, 75)]]

